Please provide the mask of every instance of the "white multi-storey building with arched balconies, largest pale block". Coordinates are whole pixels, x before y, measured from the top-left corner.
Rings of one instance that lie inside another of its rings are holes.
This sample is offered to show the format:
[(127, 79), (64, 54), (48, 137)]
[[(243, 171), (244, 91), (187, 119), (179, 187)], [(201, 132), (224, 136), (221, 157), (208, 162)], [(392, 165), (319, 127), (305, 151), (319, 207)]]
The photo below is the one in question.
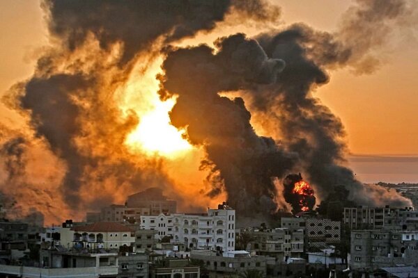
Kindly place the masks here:
[(154, 229), (156, 238), (169, 236), (191, 249), (235, 250), (235, 210), (225, 203), (208, 208), (208, 213), (141, 216), (141, 229)]

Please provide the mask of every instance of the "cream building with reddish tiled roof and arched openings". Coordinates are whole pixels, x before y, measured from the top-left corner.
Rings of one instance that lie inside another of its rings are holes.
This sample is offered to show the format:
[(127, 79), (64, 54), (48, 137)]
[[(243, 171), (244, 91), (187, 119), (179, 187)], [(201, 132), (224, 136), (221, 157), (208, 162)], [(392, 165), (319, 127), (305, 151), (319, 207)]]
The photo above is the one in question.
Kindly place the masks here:
[(134, 246), (135, 231), (115, 222), (98, 222), (77, 227), (61, 227), (61, 245), (88, 249), (119, 249)]

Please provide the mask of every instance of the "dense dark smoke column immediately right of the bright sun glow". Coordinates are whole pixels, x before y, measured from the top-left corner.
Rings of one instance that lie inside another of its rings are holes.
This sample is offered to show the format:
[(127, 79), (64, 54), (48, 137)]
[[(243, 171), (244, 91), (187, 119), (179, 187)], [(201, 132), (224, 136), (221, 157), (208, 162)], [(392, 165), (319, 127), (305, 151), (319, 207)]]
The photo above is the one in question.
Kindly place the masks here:
[(242, 213), (274, 211), (277, 190), (272, 177), (281, 177), (293, 166), (272, 138), (257, 136), (244, 101), (219, 96), (247, 83), (271, 83), (284, 62), (270, 59), (255, 40), (242, 34), (216, 42), (213, 54), (207, 46), (173, 49), (163, 63), (160, 95), (178, 95), (171, 122), (187, 128), (187, 138), (203, 145), (207, 159), (203, 168), (217, 177), (209, 195), (219, 193), (219, 180), (229, 193), (229, 204)]

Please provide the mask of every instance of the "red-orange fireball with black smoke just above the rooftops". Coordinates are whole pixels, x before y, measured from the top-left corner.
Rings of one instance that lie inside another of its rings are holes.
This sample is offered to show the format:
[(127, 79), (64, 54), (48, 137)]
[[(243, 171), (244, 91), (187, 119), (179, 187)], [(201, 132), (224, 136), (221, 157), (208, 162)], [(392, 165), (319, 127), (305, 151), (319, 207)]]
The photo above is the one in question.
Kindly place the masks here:
[(286, 202), (291, 204), (294, 214), (301, 211), (311, 211), (315, 206), (316, 198), (314, 189), (311, 188), (307, 181), (302, 179), (302, 175), (289, 174), (284, 179), (284, 198)]

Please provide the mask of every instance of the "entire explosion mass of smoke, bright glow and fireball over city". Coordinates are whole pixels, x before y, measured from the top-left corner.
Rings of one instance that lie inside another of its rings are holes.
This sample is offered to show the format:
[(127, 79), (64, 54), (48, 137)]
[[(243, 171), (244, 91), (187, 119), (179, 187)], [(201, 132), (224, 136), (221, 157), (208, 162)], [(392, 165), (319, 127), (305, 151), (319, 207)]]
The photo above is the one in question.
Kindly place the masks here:
[[(408, 15), (403, 0), (381, 6), (357, 1), (327, 33), (277, 24), (265, 0), (43, 0), (51, 44), (7, 96), (24, 125), (0, 132), (0, 195), (49, 223), (152, 186), (182, 210), (227, 197), (256, 217), (277, 211), (273, 181), (300, 169), (321, 199), (341, 184), (358, 204), (410, 206), (357, 181), (342, 122), (312, 94), (331, 70), (376, 61), (373, 47)], [(223, 34), (230, 15), (268, 32)], [(203, 33), (221, 38), (182, 44)], [(316, 200), (300, 174), (284, 197), (294, 213)]]

